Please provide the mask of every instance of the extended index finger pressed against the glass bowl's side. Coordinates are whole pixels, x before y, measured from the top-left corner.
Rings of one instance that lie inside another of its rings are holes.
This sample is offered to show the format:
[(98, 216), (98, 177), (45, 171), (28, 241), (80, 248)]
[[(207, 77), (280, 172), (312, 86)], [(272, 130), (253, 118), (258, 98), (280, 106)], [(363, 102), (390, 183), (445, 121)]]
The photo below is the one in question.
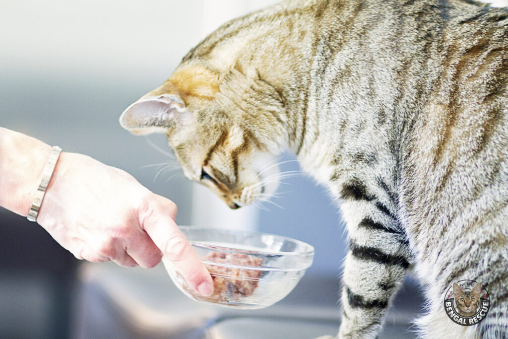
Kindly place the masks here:
[(213, 292), (210, 273), (173, 219), (164, 212), (150, 215), (143, 228), (161, 250), (163, 258), (173, 264), (191, 288), (202, 295), (210, 295)]

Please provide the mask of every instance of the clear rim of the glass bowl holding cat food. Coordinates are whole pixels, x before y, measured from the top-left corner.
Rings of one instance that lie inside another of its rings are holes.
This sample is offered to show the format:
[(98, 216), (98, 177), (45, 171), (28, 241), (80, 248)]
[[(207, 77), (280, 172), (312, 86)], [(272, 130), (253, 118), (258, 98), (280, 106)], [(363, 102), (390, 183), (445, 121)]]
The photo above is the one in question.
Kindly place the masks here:
[[(300, 252), (251, 251), (251, 250), (245, 250), (245, 249), (241, 249), (241, 248), (234, 248), (233, 246), (225, 247), (225, 246), (220, 246), (220, 245), (210, 245), (207, 243), (187, 239), (187, 241), (190, 244), (196, 245), (200, 248), (205, 248), (205, 249), (210, 249), (210, 250), (215, 250), (215, 249), (219, 248), (219, 249), (224, 249), (225, 251), (236, 252), (236, 253), (246, 253), (246, 254), (259, 253), (259, 254), (276, 255), (276, 256), (281, 256), (281, 255), (283, 255), (283, 256), (302, 256), (302, 255), (310, 255), (310, 254), (313, 255), (314, 254), (314, 246), (312, 246), (311, 244), (306, 243), (301, 240), (298, 240), (298, 239), (283, 236), (283, 235), (277, 235), (277, 234), (266, 233), (266, 232), (258, 232), (258, 231), (244, 231), (244, 230), (223, 229), (223, 228), (220, 228), (220, 229), (207, 228), (207, 227), (202, 227), (202, 226), (185, 225), (185, 226), (179, 226), (179, 227), (182, 231), (183, 230), (203, 230), (203, 231), (213, 231), (216, 233), (227, 233), (227, 234), (228, 233), (229, 234), (242, 233), (242, 234), (250, 234), (250, 235), (269, 235), (269, 236), (273, 236), (275, 238), (289, 240), (289, 241), (293, 241), (297, 244), (301, 244), (304, 246), (304, 248), (306, 250), (300, 251)], [(186, 236), (186, 234), (185, 234), (185, 236)]]

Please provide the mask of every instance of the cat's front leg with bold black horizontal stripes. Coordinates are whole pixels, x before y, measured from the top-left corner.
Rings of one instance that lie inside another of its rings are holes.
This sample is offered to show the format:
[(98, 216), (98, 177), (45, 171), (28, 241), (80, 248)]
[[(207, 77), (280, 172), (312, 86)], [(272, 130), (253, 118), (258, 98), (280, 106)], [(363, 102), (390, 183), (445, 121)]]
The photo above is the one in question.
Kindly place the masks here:
[(409, 266), (404, 232), (383, 203), (357, 199), (342, 205), (350, 250), (342, 279), (339, 338), (374, 338)]

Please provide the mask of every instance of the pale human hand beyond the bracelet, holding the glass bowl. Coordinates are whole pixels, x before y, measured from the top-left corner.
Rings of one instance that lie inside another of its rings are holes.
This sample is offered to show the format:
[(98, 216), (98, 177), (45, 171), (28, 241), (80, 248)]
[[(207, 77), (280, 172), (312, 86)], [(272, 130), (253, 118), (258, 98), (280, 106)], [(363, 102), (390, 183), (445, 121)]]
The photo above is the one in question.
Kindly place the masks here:
[(150, 268), (164, 255), (190, 286), (209, 295), (210, 274), (175, 217), (172, 201), (153, 194), (130, 174), (62, 152), (37, 222), (78, 259)]

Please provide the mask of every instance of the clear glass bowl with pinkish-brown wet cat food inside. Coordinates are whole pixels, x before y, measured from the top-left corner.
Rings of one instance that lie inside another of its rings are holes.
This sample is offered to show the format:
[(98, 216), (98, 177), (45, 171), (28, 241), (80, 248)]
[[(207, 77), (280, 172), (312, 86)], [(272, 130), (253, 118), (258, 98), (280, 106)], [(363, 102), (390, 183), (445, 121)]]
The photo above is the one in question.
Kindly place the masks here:
[(188, 297), (236, 309), (262, 309), (293, 290), (312, 264), (314, 248), (288, 237), (246, 231), (181, 226), (212, 275), (214, 292), (204, 297), (186, 284), (170, 261), (164, 266)]

